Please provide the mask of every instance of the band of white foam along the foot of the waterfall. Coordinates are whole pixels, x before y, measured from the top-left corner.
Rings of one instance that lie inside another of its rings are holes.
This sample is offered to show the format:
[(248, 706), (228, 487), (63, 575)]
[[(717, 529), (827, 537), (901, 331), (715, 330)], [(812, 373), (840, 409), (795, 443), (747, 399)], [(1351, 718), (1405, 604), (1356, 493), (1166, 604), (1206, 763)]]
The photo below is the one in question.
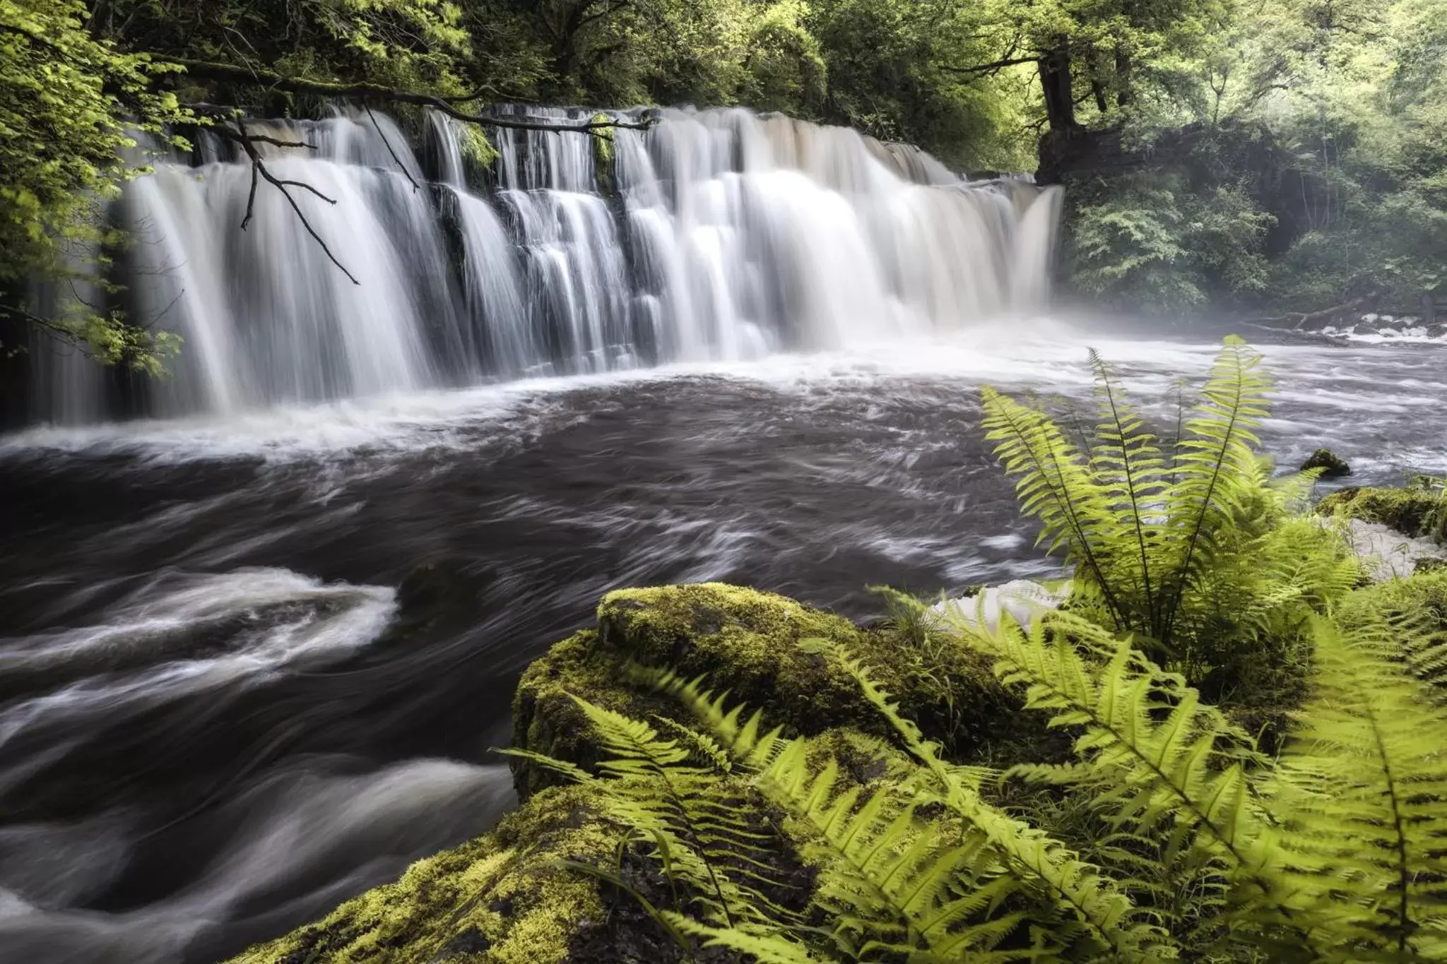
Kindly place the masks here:
[[(943, 337), (858, 341), (848, 348), (773, 354), (755, 360), (676, 363), (657, 369), (524, 379), (462, 390), (394, 393), (369, 399), (273, 408), (227, 418), (137, 421), (94, 426), (42, 426), (0, 438), (0, 458), (55, 452), (130, 455), (146, 461), (260, 458), (288, 464), (333, 457), (389, 458), (424, 449), (472, 449), (489, 434), (527, 432), (530, 421), (557, 416), (564, 396), (640, 383), (722, 377), (797, 396), (805, 405), (832, 393), (928, 393), (996, 384), (1079, 396), (1088, 392), (1087, 347), (1097, 348), (1121, 383), (1163, 408), (1172, 383), (1200, 383), (1218, 344), (1103, 338), (1049, 317), (983, 325)], [(1373, 347), (1268, 345), (1279, 406), (1341, 413), (1409, 415), (1434, 406), (1447, 383), (1437, 366)], [(1415, 354), (1415, 353), (1414, 353)], [(1330, 383), (1330, 387), (1325, 387)], [(570, 418), (583, 419), (586, 410)], [(521, 421), (519, 421), (521, 419)], [(742, 426), (739, 431), (757, 431)]]

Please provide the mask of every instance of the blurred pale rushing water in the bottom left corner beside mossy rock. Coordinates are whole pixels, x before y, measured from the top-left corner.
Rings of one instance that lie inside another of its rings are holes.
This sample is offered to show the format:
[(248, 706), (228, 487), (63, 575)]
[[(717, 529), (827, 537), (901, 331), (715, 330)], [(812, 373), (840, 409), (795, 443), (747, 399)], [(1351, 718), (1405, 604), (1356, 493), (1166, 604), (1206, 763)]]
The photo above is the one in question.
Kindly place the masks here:
[[(221, 806), (230, 840), (192, 883), (119, 913), (71, 903), (123, 866), (133, 840), (123, 814), (10, 827), (0, 831), (0, 854), (14, 857), (0, 867), (0, 961), (169, 964), (256, 898), (291, 895), (271, 911), (276, 919), (324, 913), (480, 832), (511, 801), (506, 766), (420, 759), (357, 776), (282, 772)], [(276, 929), (263, 924), (258, 937)]]

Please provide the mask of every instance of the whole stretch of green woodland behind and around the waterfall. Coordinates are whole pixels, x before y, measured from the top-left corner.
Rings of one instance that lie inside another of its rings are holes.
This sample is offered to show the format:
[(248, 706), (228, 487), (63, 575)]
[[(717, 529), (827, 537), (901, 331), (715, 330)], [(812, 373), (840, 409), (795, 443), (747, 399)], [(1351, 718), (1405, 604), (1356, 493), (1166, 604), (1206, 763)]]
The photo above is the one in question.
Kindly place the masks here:
[(339, 98), (744, 104), (1036, 172), (1066, 185), (1064, 291), (1111, 309), (1430, 321), (1447, 282), (1435, 0), (3, 0), (0, 53), (0, 304), (139, 367), (161, 327), (25, 304), (109, 233), (135, 134)]

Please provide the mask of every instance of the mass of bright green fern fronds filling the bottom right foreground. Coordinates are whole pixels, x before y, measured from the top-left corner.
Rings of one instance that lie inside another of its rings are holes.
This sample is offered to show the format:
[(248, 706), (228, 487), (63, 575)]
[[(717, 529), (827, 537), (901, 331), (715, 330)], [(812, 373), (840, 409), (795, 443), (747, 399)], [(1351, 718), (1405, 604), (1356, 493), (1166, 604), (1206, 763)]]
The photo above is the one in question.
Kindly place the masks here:
[[(1004, 779), (1088, 801), (1110, 832), (1078, 844), (1069, 825), (1055, 837), (991, 804), (985, 791), (1000, 778), (943, 757), (835, 642), (805, 646), (857, 679), (910, 754), (874, 783), (828, 754), (812, 763), (807, 739), (765, 731), (763, 714), (667, 671), (651, 676), (695, 713), (709, 736), (687, 731), (689, 743), (703, 753), (589, 710), (619, 753), (603, 765), (612, 776), (557, 766), (606, 786), (640, 840), (667, 841), (651, 853), (679, 898), (653, 912), (684, 945), (790, 963), (1437, 960), (1447, 948), (1447, 713), (1404, 671), (1391, 632), (1317, 617), (1311, 633), (1315, 695), (1273, 763), (1181, 676), (1081, 617), (1029, 632), (956, 626), (956, 645), (988, 653), (1027, 708), (1077, 734), (1074, 763), (1022, 762)], [(738, 793), (735, 780), (789, 815), (786, 834), (683, 853), (690, 834), (676, 828), (712, 811), (692, 804), (696, 818), (680, 821), (674, 788), (718, 796)], [(754, 895), (729, 924), (715, 895), (742, 895), (750, 867), (781, 857), (818, 867), (809, 906)]]

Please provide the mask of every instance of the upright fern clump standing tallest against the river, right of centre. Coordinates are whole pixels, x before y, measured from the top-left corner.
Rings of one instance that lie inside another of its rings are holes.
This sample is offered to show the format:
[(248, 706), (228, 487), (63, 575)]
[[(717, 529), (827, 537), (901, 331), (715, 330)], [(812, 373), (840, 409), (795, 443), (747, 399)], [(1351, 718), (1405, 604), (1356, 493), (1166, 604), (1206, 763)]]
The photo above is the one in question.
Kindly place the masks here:
[(1289, 516), (1299, 486), (1268, 478), (1255, 449), (1268, 412), (1260, 356), (1227, 338), (1169, 439), (1098, 356), (1091, 364), (1098, 421), (1079, 445), (1040, 409), (984, 390), (985, 438), (1040, 542), (1075, 568), (1077, 608), (1214, 692), (1276, 682), (1356, 567), (1334, 533)]

